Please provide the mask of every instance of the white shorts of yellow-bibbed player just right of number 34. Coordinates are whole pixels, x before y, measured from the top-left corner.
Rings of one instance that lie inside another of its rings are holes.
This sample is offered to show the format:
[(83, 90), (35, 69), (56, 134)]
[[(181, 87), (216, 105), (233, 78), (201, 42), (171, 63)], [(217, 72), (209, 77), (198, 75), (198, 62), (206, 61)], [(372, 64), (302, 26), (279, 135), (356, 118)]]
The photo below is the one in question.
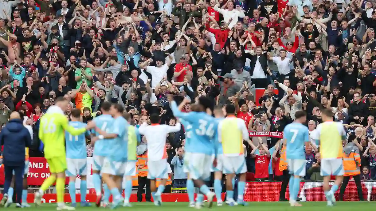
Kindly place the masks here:
[(225, 156), (223, 155), (223, 174), (243, 174), (247, 172), (247, 164), (244, 155)]

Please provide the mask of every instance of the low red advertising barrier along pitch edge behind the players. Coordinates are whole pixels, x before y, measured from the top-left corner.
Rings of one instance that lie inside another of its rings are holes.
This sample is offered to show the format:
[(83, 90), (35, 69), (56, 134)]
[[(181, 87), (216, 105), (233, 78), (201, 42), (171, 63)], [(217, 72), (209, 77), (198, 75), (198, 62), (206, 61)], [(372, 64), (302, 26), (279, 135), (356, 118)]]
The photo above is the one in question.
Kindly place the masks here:
[[(282, 182), (248, 182), (244, 190), (244, 200), (248, 202), (271, 202), (278, 201), (279, 191)], [(376, 201), (376, 181), (362, 181), (363, 197), (367, 201)], [(88, 191), (89, 192), (89, 191)], [(335, 197), (338, 200), (340, 189), (335, 193)], [(288, 199), (288, 188), (286, 198)], [(2, 196), (0, 196), (2, 197)], [(222, 200), (224, 200), (225, 193), (222, 193)], [(300, 183), (299, 197), (302, 201), (326, 201), (324, 196), (323, 182), (322, 181), (303, 181)], [(86, 195), (88, 202), (95, 202), (96, 195), (89, 193)], [(110, 198), (110, 201), (112, 199)], [(144, 196), (145, 200), (145, 196)], [(27, 196), (27, 202), (32, 203), (34, 201), (34, 194), (29, 193)], [(70, 202), (70, 196), (68, 193), (64, 196), (65, 202)], [(80, 194), (76, 194), (76, 201), (80, 201)], [(130, 197), (131, 202), (137, 201), (137, 196), (132, 193)], [(188, 202), (188, 195), (186, 193), (164, 193), (162, 195), (163, 202)], [(344, 201), (358, 201), (358, 192), (354, 181), (349, 181), (346, 191), (344, 193)], [(56, 202), (56, 194), (47, 193), (43, 196), (42, 202), (53, 203)]]

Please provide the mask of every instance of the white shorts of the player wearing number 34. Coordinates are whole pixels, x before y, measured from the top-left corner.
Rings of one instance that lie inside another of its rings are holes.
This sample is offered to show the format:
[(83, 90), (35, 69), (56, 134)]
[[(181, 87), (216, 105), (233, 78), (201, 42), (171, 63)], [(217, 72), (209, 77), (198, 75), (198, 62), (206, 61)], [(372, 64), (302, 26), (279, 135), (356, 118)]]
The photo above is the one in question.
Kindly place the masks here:
[(209, 180), (213, 156), (203, 153), (185, 153), (184, 164), (193, 180)]

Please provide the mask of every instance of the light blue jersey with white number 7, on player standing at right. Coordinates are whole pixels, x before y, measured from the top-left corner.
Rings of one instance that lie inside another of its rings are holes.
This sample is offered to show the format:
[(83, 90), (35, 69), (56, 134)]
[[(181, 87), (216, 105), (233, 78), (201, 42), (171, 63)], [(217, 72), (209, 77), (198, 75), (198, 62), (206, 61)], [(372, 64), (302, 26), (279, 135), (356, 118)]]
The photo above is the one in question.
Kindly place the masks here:
[(286, 158), (305, 160), (304, 145), (309, 142), (308, 127), (300, 123), (291, 123), (285, 127)]

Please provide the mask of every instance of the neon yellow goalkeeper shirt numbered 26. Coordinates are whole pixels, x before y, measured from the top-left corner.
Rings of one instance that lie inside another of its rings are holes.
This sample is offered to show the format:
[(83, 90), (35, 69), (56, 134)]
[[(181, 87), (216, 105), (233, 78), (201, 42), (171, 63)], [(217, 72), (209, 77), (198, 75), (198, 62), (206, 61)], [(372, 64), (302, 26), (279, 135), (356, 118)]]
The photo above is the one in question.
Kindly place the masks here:
[(85, 127), (76, 129), (69, 126), (68, 119), (58, 106), (50, 106), (42, 116), (39, 125), (39, 139), (44, 144), (44, 157), (65, 157), (65, 130), (71, 135), (79, 135), (86, 131)]

